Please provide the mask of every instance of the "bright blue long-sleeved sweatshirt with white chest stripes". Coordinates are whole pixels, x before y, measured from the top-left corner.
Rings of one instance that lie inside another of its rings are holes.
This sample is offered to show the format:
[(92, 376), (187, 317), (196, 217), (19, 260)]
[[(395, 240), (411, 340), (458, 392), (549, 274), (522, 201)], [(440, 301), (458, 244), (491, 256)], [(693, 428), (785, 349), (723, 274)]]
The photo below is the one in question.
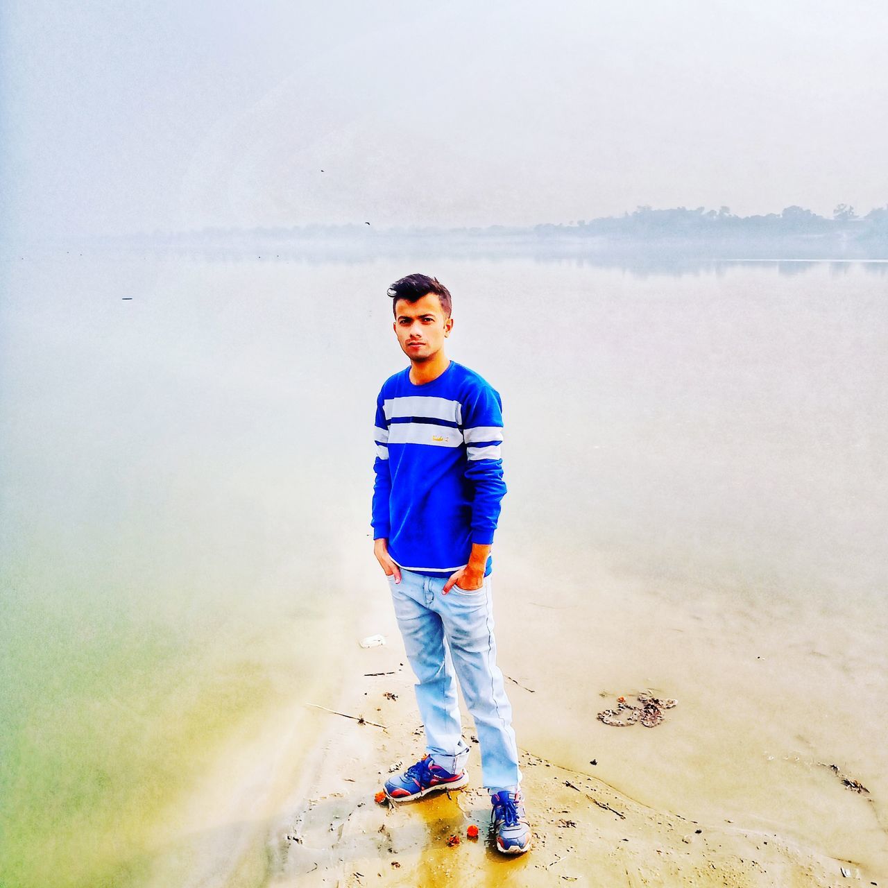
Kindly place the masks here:
[(488, 382), (456, 361), (424, 385), (401, 370), (379, 392), (375, 439), (373, 537), (395, 564), (448, 576), (472, 543), (493, 543), (506, 487), (503, 401)]

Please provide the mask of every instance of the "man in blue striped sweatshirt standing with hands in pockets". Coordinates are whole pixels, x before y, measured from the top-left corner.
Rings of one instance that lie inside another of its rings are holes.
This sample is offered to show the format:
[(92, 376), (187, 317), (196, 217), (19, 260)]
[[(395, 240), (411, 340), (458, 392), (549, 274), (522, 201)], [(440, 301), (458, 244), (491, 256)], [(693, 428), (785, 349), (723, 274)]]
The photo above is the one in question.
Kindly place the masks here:
[(386, 781), (385, 794), (408, 801), (468, 782), (456, 676), (478, 733), (496, 847), (521, 853), (530, 847), (530, 825), (511, 705), (496, 666), (490, 588), (490, 548), (506, 492), (502, 401), (444, 352), (453, 319), (443, 284), (410, 274), (388, 295), (410, 366), (386, 379), (377, 398), (374, 553), (416, 673), (426, 755)]

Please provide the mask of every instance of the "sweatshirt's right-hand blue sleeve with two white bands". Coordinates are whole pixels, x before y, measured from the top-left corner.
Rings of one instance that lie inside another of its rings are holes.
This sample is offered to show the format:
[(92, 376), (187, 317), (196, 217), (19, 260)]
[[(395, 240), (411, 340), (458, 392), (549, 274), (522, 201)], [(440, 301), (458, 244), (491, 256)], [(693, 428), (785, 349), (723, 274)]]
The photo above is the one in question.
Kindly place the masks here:
[(503, 400), (499, 392), (482, 385), (463, 405), (463, 438), (468, 463), (465, 477), (475, 489), (472, 500), (472, 543), (494, 541), (500, 503), (505, 496), (503, 459)]

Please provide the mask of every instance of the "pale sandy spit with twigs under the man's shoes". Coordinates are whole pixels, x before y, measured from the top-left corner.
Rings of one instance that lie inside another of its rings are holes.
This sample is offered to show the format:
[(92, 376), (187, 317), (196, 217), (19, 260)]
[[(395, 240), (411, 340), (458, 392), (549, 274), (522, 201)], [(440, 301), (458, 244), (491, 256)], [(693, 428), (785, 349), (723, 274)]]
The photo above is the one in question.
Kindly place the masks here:
[[(374, 794), (389, 769), (407, 765), (423, 752), (413, 678), (399, 648), (397, 639), (391, 639), (385, 648), (361, 652), (360, 674), (349, 680), (343, 699), (330, 708), (366, 721), (326, 715), (329, 724), (300, 785), (271, 823), (263, 884), (284, 888), (575, 882), (630, 888), (783, 888), (879, 881), (852, 861), (830, 858), (774, 833), (746, 829), (740, 822), (697, 822), (680, 812), (654, 810), (598, 779), (594, 765), (587, 773), (577, 773), (533, 750), (522, 750), (522, 770), (534, 847), (520, 858), (494, 850), (477, 742), (472, 742), (469, 761), (470, 788), (415, 803), (377, 805)], [(464, 736), (472, 737), (472, 725), (464, 719)], [(471, 824), (480, 829), (477, 840), (466, 836)], [(459, 844), (448, 844), (450, 836), (458, 836)]]

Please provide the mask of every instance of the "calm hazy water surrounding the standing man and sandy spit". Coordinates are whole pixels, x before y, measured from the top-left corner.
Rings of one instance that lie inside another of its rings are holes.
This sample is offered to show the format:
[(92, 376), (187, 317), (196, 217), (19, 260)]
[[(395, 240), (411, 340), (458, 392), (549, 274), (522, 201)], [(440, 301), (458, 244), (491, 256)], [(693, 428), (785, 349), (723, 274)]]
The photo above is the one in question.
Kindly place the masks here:
[(336, 686), (417, 270), (503, 395), (519, 743), (888, 871), (888, 266), (66, 257), (0, 305), (0, 882), (138, 883), (234, 725)]

